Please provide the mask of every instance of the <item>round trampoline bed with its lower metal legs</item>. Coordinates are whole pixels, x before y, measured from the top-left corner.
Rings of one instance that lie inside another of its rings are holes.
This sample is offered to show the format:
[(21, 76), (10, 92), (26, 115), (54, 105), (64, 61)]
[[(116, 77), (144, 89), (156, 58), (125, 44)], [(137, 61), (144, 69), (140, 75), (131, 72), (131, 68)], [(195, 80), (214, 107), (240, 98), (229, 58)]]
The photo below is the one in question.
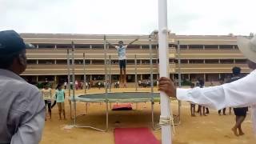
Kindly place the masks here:
[[(93, 126), (78, 126), (82, 128), (91, 128), (99, 131), (107, 131), (109, 126), (109, 105), (114, 102), (151, 102), (151, 122), (154, 130), (159, 127), (154, 126), (154, 102), (160, 102), (159, 93), (151, 92), (118, 92), (118, 93), (102, 93), (102, 94), (82, 94), (75, 97), (70, 97), (72, 102), (105, 102), (106, 103), (106, 129), (102, 130)], [(87, 106), (87, 105), (86, 105)], [(86, 108), (87, 109), (87, 108)], [(76, 110), (76, 109), (75, 109)], [(76, 113), (75, 113), (76, 114)], [(82, 114), (84, 115), (84, 114)], [(79, 115), (78, 115), (79, 116)], [(78, 116), (74, 116), (75, 121)], [(75, 122), (76, 123), (76, 122)]]

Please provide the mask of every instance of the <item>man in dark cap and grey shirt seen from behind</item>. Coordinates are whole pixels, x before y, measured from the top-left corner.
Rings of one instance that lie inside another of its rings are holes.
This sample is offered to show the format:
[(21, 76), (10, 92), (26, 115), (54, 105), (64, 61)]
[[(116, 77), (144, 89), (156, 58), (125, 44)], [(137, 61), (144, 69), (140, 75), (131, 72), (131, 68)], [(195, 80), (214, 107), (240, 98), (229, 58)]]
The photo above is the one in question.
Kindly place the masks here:
[(39, 143), (45, 105), (36, 86), (21, 77), (26, 70), (26, 45), (14, 31), (0, 31), (0, 143)]

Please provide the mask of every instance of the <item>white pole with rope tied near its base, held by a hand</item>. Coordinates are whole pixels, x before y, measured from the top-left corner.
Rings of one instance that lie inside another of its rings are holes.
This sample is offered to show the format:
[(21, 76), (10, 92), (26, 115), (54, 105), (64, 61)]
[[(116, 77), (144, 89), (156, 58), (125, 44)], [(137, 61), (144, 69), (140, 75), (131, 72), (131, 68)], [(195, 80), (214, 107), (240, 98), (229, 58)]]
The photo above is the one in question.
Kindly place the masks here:
[[(160, 77), (169, 78), (169, 50), (167, 28), (167, 1), (158, 0), (158, 43)], [(162, 127), (162, 144), (171, 144), (170, 99), (162, 91), (160, 125)]]

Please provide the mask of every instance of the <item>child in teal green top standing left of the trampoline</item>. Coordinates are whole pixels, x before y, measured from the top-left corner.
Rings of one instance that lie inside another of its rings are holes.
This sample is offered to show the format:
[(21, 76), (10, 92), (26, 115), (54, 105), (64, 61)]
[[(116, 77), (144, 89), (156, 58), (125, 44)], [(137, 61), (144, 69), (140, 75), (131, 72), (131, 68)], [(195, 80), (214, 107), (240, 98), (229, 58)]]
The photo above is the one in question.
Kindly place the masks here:
[(55, 97), (56, 97), (56, 102), (57, 102), (57, 106), (58, 106), (59, 120), (62, 120), (62, 113), (63, 113), (64, 119), (66, 119), (65, 107), (64, 107), (65, 91), (62, 90), (62, 85), (57, 86), (57, 90), (55, 92)]

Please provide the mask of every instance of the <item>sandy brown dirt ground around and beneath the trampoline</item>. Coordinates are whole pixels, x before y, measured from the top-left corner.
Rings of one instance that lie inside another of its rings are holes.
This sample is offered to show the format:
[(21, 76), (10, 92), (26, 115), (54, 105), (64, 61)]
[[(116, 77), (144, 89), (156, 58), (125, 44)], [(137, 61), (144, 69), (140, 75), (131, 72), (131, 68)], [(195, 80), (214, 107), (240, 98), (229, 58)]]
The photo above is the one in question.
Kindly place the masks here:
[[(140, 91), (150, 91), (141, 88)], [(112, 91), (134, 91), (132, 88), (114, 89)], [(89, 93), (103, 93), (104, 90), (91, 89)], [(77, 94), (83, 93), (78, 90)], [(178, 102), (171, 102), (174, 114), (178, 111)], [(41, 144), (114, 144), (114, 128), (116, 127), (149, 127), (151, 129), (150, 103), (139, 103), (138, 109), (133, 104), (134, 110), (131, 111), (111, 111), (109, 114), (108, 132), (100, 132), (88, 128), (70, 128), (74, 121), (70, 119), (70, 105), (65, 103), (67, 120), (58, 120), (58, 107), (53, 109), (53, 117), (46, 121), (46, 126), (42, 134)], [(78, 102), (77, 114), (85, 114), (85, 103)], [(95, 126), (105, 128), (106, 115), (105, 104), (90, 103), (88, 114), (78, 118), (78, 125)], [(155, 103), (155, 122), (157, 123), (160, 114), (160, 105)], [(254, 137), (250, 115), (242, 125), (245, 135), (236, 137), (231, 131), (234, 126), (234, 114), (219, 116), (216, 110), (210, 110), (210, 115), (196, 117), (190, 116), (190, 105), (182, 102), (181, 124), (175, 126), (176, 134), (173, 136), (173, 144), (254, 144)], [(151, 129), (152, 130), (152, 129)], [(152, 130), (159, 140), (161, 130)]]

